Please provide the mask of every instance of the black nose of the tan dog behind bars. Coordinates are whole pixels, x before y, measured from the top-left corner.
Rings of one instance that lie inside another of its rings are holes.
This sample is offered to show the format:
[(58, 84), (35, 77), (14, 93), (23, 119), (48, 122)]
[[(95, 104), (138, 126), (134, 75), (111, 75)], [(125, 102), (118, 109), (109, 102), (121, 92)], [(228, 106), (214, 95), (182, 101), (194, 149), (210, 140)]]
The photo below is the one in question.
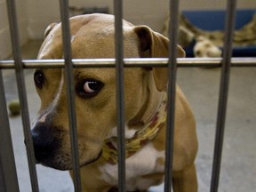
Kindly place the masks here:
[(45, 124), (37, 124), (36, 127), (31, 130), (31, 135), (34, 144), (36, 161), (40, 163), (44, 159), (52, 156), (57, 146), (52, 129)]

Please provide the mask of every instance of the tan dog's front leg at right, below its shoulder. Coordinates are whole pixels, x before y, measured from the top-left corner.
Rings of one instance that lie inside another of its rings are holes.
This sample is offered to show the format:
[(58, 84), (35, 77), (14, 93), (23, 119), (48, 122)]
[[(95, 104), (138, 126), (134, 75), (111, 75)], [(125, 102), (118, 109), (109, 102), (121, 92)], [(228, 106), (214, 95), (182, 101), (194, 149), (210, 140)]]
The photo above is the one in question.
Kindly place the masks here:
[(196, 166), (192, 164), (179, 172), (173, 172), (172, 185), (174, 192), (196, 192)]

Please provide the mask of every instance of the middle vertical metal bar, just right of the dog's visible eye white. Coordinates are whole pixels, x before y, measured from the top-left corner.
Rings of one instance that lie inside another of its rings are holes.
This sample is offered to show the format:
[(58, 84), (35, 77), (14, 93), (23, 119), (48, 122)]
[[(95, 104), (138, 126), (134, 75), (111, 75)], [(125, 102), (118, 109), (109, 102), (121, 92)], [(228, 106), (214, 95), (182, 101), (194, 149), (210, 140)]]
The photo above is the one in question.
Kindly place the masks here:
[(118, 147), (118, 188), (125, 191), (125, 136), (124, 136), (124, 43), (123, 1), (114, 1), (116, 51), (116, 116)]

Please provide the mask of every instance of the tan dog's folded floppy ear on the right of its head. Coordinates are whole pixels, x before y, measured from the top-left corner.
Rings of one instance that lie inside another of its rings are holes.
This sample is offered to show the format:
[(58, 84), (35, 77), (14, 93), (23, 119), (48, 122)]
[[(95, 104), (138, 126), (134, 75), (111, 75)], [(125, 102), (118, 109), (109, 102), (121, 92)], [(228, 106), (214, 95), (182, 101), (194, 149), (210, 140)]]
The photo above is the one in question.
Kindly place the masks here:
[[(135, 33), (140, 40), (140, 57), (142, 58), (166, 58), (168, 57), (169, 40), (165, 36), (151, 30), (147, 26), (137, 26)], [(178, 45), (178, 57), (185, 57), (185, 52)], [(167, 68), (153, 68), (153, 76), (158, 91), (165, 90), (168, 81)]]

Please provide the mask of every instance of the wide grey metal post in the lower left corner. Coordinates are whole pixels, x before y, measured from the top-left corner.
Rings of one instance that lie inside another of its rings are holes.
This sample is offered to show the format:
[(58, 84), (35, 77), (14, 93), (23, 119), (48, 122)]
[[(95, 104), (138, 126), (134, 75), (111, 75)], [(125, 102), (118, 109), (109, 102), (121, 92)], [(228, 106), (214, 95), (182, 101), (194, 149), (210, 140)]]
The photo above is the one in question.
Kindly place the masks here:
[(0, 70), (0, 191), (19, 191), (16, 166), (12, 148), (12, 136), (6, 109), (4, 81)]

